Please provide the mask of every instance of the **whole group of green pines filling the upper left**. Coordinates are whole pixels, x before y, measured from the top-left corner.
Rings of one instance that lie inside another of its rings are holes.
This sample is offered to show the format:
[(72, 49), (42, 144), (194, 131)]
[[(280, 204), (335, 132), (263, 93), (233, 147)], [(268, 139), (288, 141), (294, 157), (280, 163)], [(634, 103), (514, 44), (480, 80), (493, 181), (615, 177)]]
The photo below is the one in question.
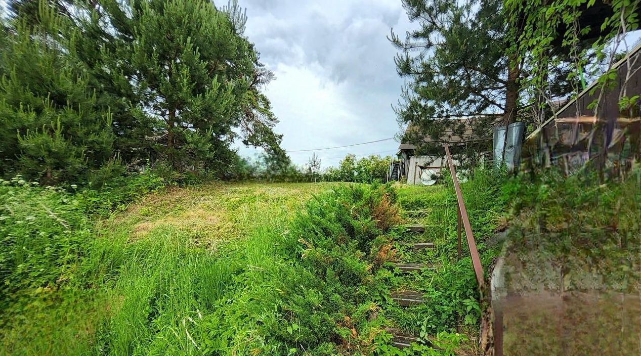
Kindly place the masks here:
[(234, 177), (242, 166), (235, 140), (288, 166), (262, 93), (274, 76), (243, 35), (244, 19), (230, 16), (237, 8), (11, 0), (8, 10), (0, 177), (97, 182), (151, 166)]

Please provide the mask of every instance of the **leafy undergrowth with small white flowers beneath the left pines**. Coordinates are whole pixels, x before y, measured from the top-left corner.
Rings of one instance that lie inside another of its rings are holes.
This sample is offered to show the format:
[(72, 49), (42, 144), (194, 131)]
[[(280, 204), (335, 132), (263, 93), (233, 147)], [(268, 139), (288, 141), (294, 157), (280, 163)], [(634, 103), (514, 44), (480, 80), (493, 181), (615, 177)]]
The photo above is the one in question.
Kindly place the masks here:
[(65, 191), (18, 176), (0, 179), (0, 309), (31, 288), (58, 289), (96, 237), (92, 215), (105, 215), (166, 182), (151, 174), (119, 176), (99, 190)]

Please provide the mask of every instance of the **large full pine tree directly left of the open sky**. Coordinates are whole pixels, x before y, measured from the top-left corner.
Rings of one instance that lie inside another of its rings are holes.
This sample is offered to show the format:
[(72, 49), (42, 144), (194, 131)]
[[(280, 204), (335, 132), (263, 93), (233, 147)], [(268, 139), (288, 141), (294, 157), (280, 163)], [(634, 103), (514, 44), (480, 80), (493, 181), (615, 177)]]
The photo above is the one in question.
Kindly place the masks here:
[(238, 134), (246, 145), (280, 150), (278, 120), (260, 92), (273, 74), (228, 13), (204, 0), (103, 0), (87, 10), (83, 52), (99, 44), (96, 77), (124, 87), (158, 119), (151, 136), (160, 156), (178, 168), (213, 168), (229, 162)]

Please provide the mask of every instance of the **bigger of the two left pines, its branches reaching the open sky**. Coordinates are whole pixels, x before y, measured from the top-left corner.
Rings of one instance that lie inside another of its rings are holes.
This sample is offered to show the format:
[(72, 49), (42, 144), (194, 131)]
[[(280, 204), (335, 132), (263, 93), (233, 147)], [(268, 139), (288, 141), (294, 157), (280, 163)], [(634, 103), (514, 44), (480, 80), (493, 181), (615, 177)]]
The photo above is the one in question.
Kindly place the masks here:
[(110, 109), (115, 150), (126, 161), (151, 157), (180, 170), (220, 170), (235, 161), (229, 147), (237, 138), (285, 156), (262, 93), (273, 74), (243, 36), (237, 3), (229, 13), (206, 0), (10, 3), (24, 22), (38, 21), (38, 6), (66, 20), (71, 30), (56, 35), (88, 68), (88, 86)]

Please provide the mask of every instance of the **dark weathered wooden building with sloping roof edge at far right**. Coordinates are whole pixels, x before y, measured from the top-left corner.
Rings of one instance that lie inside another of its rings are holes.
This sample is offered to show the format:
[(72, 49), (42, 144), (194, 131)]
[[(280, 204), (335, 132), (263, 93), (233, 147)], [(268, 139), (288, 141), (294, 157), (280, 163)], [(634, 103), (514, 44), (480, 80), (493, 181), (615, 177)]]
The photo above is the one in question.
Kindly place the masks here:
[(599, 81), (594, 81), (529, 134), (523, 150), (524, 168), (558, 165), (570, 172), (587, 161), (613, 166), (638, 158), (639, 101), (623, 107), (620, 97), (641, 94), (641, 44), (612, 69), (617, 78), (607, 92), (601, 93)]

